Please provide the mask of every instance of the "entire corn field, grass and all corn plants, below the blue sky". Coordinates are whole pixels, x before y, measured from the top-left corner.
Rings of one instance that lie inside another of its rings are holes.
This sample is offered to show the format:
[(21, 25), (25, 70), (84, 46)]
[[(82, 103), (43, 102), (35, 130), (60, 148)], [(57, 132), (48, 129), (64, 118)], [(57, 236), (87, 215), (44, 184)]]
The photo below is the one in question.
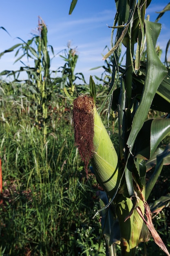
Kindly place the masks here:
[(165, 63), (157, 47), (170, 4), (150, 22), (150, 2), (115, 1), (99, 83), (75, 73), (69, 43), (51, 70), (41, 17), (0, 53), (34, 61), (0, 71), (0, 255), (170, 256), (169, 38)]

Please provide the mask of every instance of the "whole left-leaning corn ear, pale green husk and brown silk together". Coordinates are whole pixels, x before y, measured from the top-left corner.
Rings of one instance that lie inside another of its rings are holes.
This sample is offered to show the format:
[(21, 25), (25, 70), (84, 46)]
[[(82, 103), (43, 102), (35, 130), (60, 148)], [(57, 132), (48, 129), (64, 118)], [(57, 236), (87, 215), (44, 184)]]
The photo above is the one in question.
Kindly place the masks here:
[(99, 184), (112, 198), (121, 178), (118, 157), (92, 97), (79, 96), (73, 101), (73, 123), (75, 145), (84, 161), (86, 173), (91, 159)]

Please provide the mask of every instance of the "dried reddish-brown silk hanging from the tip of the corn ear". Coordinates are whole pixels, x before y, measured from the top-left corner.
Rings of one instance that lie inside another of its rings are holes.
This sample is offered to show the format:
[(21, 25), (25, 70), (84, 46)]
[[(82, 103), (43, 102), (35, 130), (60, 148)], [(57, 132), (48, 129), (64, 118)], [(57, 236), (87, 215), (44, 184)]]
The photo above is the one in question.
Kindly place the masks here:
[(94, 106), (93, 98), (87, 95), (79, 96), (73, 101), (75, 146), (84, 161), (86, 174), (88, 173), (88, 163), (94, 153)]

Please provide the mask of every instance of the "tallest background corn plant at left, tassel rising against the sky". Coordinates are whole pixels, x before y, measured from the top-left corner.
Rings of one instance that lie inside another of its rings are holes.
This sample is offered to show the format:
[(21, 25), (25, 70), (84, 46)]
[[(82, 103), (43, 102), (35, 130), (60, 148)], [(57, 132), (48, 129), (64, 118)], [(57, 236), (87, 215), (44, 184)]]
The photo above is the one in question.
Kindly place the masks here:
[[(33, 37), (27, 42), (19, 38), (22, 43), (16, 44), (0, 53), (1, 57), (3, 54), (17, 49), (15, 56), (18, 56), (19, 52), (22, 51), (22, 55), (20, 55), (14, 63), (20, 61), (24, 65), (24, 67), (20, 67), (20, 70), (4, 70), (0, 75), (13, 76), (13, 82), (18, 82), (18, 84), (22, 83), (22, 88), (23, 90), (25, 89), (25, 96), (31, 99), (35, 106), (35, 125), (43, 130), (45, 142), (47, 135), (46, 121), (48, 105), (53, 92), (56, 91), (57, 85), (62, 81), (62, 78), (52, 78), (51, 76), (49, 49), (51, 49), (53, 55), (54, 52), (53, 47), (47, 44), (47, 28), (40, 17), (38, 18), (38, 29), (36, 32), (37, 34), (33, 34)], [(33, 46), (35, 46), (35, 48)], [(29, 67), (23, 63), (22, 58), (24, 56), (26, 56), (28, 60), (31, 59), (34, 61), (34, 67)], [(28, 79), (20, 80), (21, 72), (26, 72)]]

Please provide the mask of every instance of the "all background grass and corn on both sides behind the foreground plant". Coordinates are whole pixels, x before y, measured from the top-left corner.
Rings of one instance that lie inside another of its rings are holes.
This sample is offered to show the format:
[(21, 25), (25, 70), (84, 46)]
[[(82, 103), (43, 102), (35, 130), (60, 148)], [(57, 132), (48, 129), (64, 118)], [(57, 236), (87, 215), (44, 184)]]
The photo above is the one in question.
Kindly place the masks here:
[[(108, 219), (105, 224), (101, 220), (101, 216), (104, 219), (105, 213), (108, 214), (108, 209), (101, 211), (93, 219), (97, 210), (107, 204), (108, 197), (97, 182), (93, 168), (88, 168), (86, 175), (84, 163), (74, 144), (72, 103), (68, 94), (71, 99), (78, 94), (89, 95), (89, 83), (93, 83), (94, 87), (94, 82), (92, 78), (90, 82), (85, 81), (82, 73), (75, 74), (79, 56), (69, 43), (61, 56), (64, 65), (52, 71), (49, 51), (54, 56), (55, 53), (53, 46), (49, 46), (48, 31), (42, 18), (38, 20), (38, 31), (39, 34), (33, 35), (27, 42), (21, 39), (20, 44), (0, 53), (2, 56), (15, 51), (16, 61), (22, 63), (19, 70), (0, 71), (0, 255), (132, 255), (122, 254), (119, 245), (114, 245), (113, 250), (109, 251), (108, 240), (112, 238), (112, 234), (106, 231), (106, 226), (109, 229), (111, 224)], [(6, 33), (3, 27), (0, 30), (2, 32)], [(156, 50), (159, 58), (160, 48), (157, 47)], [(33, 67), (24, 65), (24, 56), (33, 59)], [(125, 57), (127, 61), (128, 58)], [(117, 107), (114, 102), (111, 104), (110, 100), (109, 103), (106, 101), (110, 99), (108, 95), (113, 95), (116, 102), (117, 93), (122, 88), (122, 74), (126, 67), (121, 65), (122, 60), (118, 55), (116, 58), (119, 72), (113, 74), (115, 56), (110, 54), (104, 61), (101, 77), (95, 77), (98, 81), (95, 89), (97, 110), (100, 111), (116, 152), (119, 152)], [(146, 75), (145, 61), (146, 51), (143, 52), (141, 62), (142, 77)], [(129, 66), (130, 61), (126, 65)], [(169, 70), (170, 63), (167, 60), (163, 65)], [(21, 72), (25, 74), (25, 80), (22, 81)], [(130, 76), (132, 72), (133, 69), (127, 74), (130, 79), (138, 79), (142, 85), (140, 76)], [(141, 97), (141, 91), (136, 93), (136, 97), (138, 96)], [(163, 98), (164, 108), (150, 108), (145, 121), (162, 116), (170, 118), (170, 111), (167, 110), (170, 106), (170, 89), (167, 97)], [(126, 115), (129, 115), (128, 111)], [(154, 186), (148, 192), (147, 202), (152, 210), (155, 229), (170, 252), (169, 134), (168, 130), (166, 136), (159, 139), (159, 152), (150, 157), (150, 162), (148, 160), (146, 182), (152, 178)], [(152, 164), (156, 162), (158, 154), (165, 152), (166, 146), (166, 156), (163, 155), (164, 162), (158, 173), (156, 164), (154, 168)], [(154, 254), (165, 255), (151, 237), (146, 243), (139, 243), (135, 255)]]

